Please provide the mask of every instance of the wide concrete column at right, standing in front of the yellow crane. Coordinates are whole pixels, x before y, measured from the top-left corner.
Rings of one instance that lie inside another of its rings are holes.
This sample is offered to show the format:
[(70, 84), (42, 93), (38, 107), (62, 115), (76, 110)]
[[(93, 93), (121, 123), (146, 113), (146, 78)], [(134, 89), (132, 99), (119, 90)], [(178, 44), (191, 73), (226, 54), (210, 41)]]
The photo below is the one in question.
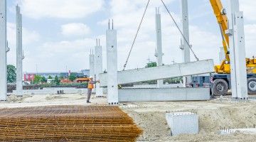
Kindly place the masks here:
[(232, 97), (247, 99), (247, 72), (245, 65), (245, 30), (243, 13), (238, 0), (229, 1), (230, 66)]

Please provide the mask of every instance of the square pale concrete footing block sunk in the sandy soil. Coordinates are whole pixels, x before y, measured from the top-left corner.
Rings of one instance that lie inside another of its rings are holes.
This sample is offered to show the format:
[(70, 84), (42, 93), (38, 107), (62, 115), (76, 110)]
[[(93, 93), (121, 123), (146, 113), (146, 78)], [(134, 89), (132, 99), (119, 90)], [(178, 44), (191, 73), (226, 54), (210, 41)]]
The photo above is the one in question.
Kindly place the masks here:
[(198, 133), (198, 119), (198, 115), (191, 112), (166, 113), (167, 124), (171, 127), (171, 136)]

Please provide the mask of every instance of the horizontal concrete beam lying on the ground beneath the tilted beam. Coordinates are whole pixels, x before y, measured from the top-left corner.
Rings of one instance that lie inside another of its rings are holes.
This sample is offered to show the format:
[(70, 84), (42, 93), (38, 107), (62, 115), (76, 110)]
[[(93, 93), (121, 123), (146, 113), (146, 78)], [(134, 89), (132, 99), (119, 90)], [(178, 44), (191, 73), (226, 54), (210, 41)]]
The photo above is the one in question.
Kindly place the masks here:
[(201, 101), (210, 99), (210, 88), (119, 89), (119, 102)]

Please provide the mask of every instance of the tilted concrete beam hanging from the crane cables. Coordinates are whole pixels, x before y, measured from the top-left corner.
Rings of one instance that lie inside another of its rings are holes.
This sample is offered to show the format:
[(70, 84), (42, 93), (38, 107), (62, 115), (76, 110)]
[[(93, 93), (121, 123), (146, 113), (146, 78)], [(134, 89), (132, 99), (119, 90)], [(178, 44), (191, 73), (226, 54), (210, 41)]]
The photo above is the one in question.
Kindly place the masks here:
[[(127, 84), (149, 80), (161, 80), (171, 77), (200, 75), (211, 72), (214, 72), (213, 60), (201, 60), (198, 62), (187, 62), (175, 65), (164, 65), (161, 67), (121, 71), (118, 72), (117, 83)], [(100, 74), (100, 86), (107, 86), (107, 74)]]

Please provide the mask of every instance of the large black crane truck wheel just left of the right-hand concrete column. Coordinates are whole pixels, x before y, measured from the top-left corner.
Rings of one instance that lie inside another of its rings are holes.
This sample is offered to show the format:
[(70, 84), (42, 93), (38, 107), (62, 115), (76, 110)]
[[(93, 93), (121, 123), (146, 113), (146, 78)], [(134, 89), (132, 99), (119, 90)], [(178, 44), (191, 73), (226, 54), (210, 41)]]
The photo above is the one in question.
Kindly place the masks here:
[(228, 93), (228, 82), (223, 79), (217, 79), (213, 81), (213, 95), (221, 96)]

